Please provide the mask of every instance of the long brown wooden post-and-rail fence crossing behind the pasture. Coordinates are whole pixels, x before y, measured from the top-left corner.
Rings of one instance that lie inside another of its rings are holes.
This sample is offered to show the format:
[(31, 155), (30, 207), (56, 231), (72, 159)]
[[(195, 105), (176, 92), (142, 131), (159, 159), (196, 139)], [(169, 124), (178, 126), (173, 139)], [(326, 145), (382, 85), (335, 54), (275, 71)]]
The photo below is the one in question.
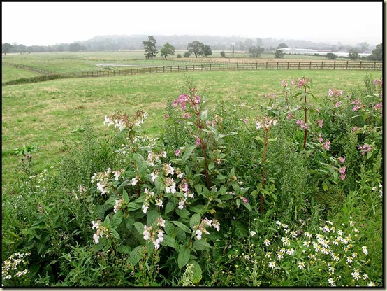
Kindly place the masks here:
[[(175, 73), (187, 71), (239, 71), (239, 70), (377, 70), (383, 69), (382, 62), (246, 62), (246, 63), (217, 63), (217, 64), (194, 64), (189, 66), (152, 66), (136, 69), (121, 69), (121, 70), (98, 70), (98, 71), (76, 71), (71, 73), (53, 73), (26, 66), (22, 64), (14, 64), (2, 62), (3, 66), (15, 66), (21, 69), (36, 71), (45, 76), (52, 78), (82, 78), (82, 77), (110, 77), (110, 76), (126, 76), (136, 75), (140, 73)], [(47, 78), (47, 80), (52, 80)], [(23, 79), (22, 83), (31, 83), (42, 80), (39, 77)], [(3, 85), (15, 84), (17, 80), (3, 83)]]

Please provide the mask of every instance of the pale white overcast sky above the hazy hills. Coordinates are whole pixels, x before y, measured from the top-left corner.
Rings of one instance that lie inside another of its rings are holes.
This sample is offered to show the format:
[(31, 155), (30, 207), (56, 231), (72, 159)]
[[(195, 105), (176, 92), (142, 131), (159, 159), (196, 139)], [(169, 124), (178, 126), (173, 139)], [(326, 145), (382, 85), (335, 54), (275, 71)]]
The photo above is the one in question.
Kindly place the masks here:
[(2, 2), (2, 43), (104, 35), (209, 35), (355, 45), (382, 42), (379, 2)]

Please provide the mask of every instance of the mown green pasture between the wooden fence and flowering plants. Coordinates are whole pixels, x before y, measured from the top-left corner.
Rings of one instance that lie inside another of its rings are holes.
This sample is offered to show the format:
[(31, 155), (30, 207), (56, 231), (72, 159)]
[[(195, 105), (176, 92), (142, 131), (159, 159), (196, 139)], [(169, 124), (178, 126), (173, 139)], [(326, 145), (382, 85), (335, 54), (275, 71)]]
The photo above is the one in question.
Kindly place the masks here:
[[(379, 72), (369, 72), (380, 78)], [(227, 100), (235, 106), (251, 108), (265, 104), (264, 95), (281, 92), (280, 81), (309, 76), (317, 97), (337, 87), (349, 94), (361, 84), (365, 71), (217, 71), (189, 73), (198, 84), (198, 92), (209, 106)], [(8, 78), (8, 76), (6, 77)], [(176, 99), (184, 80), (182, 73), (51, 80), (43, 83), (11, 85), (2, 88), (2, 181), (3, 190), (13, 183), (20, 157), (13, 149), (38, 146), (34, 163), (39, 171), (54, 165), (61, 156), (63, 141), (78, 140), (80, 127), (89, 120), (98, 132), (105, 115), (115, 111), (149, 113), (145, 134), (155, 136), (161, 128), (168, 99)]]

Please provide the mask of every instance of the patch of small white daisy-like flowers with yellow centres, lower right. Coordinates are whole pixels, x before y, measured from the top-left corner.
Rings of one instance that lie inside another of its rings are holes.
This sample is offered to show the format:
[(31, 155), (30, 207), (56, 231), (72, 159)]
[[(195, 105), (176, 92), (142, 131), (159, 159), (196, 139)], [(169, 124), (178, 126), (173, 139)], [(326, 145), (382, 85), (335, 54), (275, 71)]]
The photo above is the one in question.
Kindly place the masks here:
[[(343, 274), (350, 272), (356, 285), (374, 285), (362, 271), (362, 262), (369, 262), (366, 258), (368, 250), (367, 246), (356, 246), (356, 241), (361, 236), (352, 220), (342, 223), (341, 227), (335, 227), (333, 222), (326, 220), (315, 234), (305, 231), (306, 222), (302, 222), (300, 230), (280, 221), (276, 224), (278, 234), (275, 237), (281, 238), (279, 246), (275, 243), (277, 239), (270, 241), (266, 238), (263, 241), (264, 248), (267, 249), (265, 258), (268, 269), (282, 269), (282, 261), (285, 260), (284, 266), (288, 266), (289, 262), (294, 261), (291, 257), (295, 255), (298, 257), (298, 269), (302, 271), (309, 271), (319, 264), (319, 276), (326, 276), (330, 285), (338, 285), (337, 281), (342, 279)], [(274, 250), (270, 251), (270, 248)], [(337, 274), (338, 272), (343, 273)]]

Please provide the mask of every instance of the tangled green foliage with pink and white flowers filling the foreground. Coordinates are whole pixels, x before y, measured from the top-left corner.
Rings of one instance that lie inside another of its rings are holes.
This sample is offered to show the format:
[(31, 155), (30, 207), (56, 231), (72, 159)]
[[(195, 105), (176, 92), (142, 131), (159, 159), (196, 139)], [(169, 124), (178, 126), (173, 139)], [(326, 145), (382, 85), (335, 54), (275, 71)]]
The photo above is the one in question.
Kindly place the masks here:
[(115, 132), (86, 123), (54, 169), (23, 156), (3, 200), (3, 282), (383, 285), (382, 80), (319, 99), (309, 77), (281, 88), (252, 111), (210, 107), (187, 77), (157, 139), (147, 112), (116, 111)]

